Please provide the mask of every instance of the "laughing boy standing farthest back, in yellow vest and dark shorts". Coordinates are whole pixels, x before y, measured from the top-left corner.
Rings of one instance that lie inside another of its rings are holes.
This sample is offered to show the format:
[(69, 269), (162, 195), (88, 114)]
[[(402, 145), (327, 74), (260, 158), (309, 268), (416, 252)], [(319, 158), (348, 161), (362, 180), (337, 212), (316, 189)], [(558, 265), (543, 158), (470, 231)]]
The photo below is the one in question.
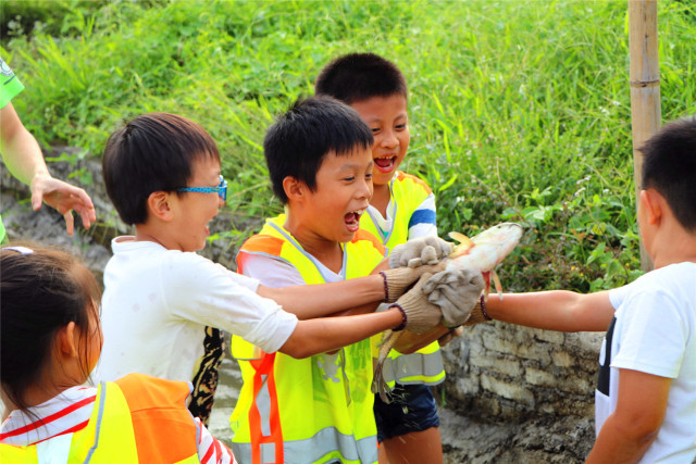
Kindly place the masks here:
[[(360, 227), (378, 237), (387, 254), (409, 239), (436, 238), (432, 190), (420, 178), (398, 171), (411, 137), (408, 91), (399, 68), (373, 53), (346, 54), (324, 66), (314, 90), (350, 105), (372, 130), (374, 193)], [(384, 443), (381, 454), (384, 450), (393, 464), (442, 462), (439, 418), (428, 387), (445, 379), (437, 341), (413, 354), (391, 350), (383, 373), (394, 391), (390, 404), (375, 396), (378, 440)], [(387, 456), (382, 455), (381, 462)]]

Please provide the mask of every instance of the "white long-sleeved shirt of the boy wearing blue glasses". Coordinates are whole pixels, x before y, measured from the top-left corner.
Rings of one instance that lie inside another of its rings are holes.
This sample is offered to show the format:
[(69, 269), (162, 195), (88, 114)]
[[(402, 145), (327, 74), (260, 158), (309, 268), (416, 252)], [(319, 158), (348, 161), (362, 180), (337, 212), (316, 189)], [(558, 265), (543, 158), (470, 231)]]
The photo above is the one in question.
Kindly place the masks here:
[(104, 268), (104, 344), (97, 380), (137, 372), (190, 381), (203, 354), (204, 327), (239, 335), (272, 353), (297, 317), (256, 293), (259, 280), (196, 253), (119, 237)]

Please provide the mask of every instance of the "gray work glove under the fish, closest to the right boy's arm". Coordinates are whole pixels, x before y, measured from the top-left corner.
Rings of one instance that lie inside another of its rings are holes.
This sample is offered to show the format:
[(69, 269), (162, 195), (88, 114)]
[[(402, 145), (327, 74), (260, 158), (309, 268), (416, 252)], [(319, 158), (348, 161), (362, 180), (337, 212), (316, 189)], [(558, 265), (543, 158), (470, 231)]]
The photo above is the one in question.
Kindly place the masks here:
[(457, 327), (469, 319), (483, 289), (481, 272), (465, 268), (437, 273), (423, 286), (428, 301), (440, 308), (446, 327)]

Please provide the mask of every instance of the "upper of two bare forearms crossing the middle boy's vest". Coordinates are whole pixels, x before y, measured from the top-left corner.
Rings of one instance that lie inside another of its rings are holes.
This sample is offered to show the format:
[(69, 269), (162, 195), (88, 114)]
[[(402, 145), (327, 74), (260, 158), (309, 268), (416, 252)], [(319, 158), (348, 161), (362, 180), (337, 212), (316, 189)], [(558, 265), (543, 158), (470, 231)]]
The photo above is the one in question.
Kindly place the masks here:
[(259, 286), (257, 293), (275, 300), (300, 319), (323, 317), (351, 309), (364, 313), (374, 311), (384, 299), (384, 278), (377, 274), (322, 285), (283, 288)]

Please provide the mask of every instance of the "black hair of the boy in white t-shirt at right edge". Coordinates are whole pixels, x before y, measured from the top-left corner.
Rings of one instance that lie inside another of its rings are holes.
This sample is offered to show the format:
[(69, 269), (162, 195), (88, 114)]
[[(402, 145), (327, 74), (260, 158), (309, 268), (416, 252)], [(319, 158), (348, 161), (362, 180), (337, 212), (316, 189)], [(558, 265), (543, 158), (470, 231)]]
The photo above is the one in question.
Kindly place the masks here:
[(696, 115), (664, 125), (641, 148), (643, 188), (654, 188), (696, 234)]

